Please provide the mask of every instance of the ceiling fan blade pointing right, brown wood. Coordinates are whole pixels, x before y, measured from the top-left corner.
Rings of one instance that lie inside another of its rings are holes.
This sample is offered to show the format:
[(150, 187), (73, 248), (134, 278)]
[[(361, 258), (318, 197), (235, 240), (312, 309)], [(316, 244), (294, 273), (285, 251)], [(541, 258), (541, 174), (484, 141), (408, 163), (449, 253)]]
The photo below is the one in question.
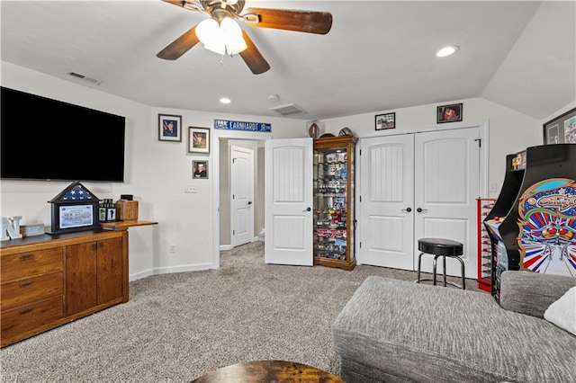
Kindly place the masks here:
[(247, 8), (242, 15), (247, 24), (252, 27), (317, 34), (326, 34), (332, 28), (332, 13), (329, 12)]

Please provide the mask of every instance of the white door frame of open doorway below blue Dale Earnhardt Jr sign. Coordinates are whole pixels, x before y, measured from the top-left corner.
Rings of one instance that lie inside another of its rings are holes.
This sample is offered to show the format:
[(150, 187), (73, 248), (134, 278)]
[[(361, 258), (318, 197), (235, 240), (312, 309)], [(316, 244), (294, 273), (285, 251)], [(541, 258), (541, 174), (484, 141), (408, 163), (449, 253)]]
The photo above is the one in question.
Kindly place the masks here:
[(211, 129), (212, 182), (212, 269), (220, 268), (220, 139), (247, 139), (262, 141), (272, 138), (272, 133), (244, 130)]

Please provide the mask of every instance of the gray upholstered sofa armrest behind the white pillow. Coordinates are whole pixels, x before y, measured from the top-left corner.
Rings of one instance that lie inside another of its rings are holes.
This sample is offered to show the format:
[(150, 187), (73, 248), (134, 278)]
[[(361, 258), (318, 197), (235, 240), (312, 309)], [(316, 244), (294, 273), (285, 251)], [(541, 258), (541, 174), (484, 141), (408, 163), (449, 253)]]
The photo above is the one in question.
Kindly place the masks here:
[(500, 307), (544, 318), (546, 308), (576, 286), (576, 278), (539, 272), (506, 271), (500, 275)]

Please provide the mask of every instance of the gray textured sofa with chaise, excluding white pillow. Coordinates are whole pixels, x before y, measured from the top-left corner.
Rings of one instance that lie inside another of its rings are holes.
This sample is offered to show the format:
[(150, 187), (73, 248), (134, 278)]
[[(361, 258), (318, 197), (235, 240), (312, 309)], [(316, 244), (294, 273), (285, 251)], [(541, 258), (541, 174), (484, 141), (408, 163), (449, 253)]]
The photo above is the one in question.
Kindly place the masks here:
[[(576, 381), (576, 336), (544, 319), (576, 278), (503, 272), (487, 292), (368, 277), (335, 319), (353, 382)], [(576, 319), (575, 319), (576, 320)]]

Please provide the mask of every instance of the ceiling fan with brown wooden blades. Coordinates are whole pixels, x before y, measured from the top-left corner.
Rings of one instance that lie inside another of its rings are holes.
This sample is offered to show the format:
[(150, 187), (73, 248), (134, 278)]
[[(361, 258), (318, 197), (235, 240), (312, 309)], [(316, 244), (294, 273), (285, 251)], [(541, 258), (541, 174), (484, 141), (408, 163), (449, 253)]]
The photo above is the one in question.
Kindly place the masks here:
[[(314, 12), (288, 9), (272, 8), (246, 8), (246, 0), (162, 0), (169, 4), (174, 4), (191, 11), (207, 13), (211, 16), (211, 23), (215, 26), (212, 28), (233, 29), (238, 33), (237, 42), (240, 45), (238, 49), (230, 48), (226, 45), (220, 46), (219, 49), (211, 49), (210, 43), (205, 42), (203, 36), (206, 32), (202, 24), (207, 21), (194, 25), (190, 30), (184, 32), (182, 36), (170, 43), (165, 49), (157, 53), (158, 58), (166, 60), (175, 60), (182, 56), (188, 49), (191, 49), (198, 42), (204, 44), (204, 48), (219, 51), (220, 53), (228, 52), (230, 55), (238, 53), (246, 62), (253, 74), (259, 75), (270, 69), (266, 59), (262, 57), (254, 42), (250, 40), (246, 31), (239, 28), (234, 19), (243, 20), (247, 25), (257, 28), (273, 28), (285, 31), (301, 31), (306, 33), (326, 34), (332, 27), (332, 14), (329, 12)], [(214, 22), (215, 21), (215, 22)], [(232, 21), (233, 23), (230, 23)], [(236, 25), (234, 25), (236, 24)], [(242, 39), (239, 39), (241, 33)], [(200, 35), (200, 38), (198, 37)]]

